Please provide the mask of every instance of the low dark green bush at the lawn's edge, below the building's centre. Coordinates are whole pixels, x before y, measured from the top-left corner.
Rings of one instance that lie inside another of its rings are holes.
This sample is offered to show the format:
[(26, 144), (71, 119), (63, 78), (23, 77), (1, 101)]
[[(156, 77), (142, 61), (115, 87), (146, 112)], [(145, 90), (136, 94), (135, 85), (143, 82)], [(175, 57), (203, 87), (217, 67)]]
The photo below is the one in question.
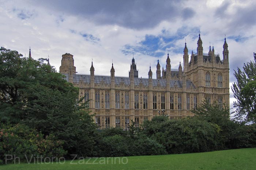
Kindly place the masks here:
[(160, 155), (166, 154), (165, 147), (147, 137), (137, 127), (134, 122), (129, 131), (120, 128), (110, 128), (101, 130), (97, 139), (95, 150), (100, 157), (119, 157), (132, 155)]

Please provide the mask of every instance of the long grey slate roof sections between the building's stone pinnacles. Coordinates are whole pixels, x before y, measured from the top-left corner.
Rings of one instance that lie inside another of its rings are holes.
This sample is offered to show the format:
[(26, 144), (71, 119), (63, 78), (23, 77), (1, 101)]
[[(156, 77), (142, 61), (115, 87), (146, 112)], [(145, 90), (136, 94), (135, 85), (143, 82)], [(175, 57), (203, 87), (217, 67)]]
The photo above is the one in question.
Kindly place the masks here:
[[(68, 74), (64, 74), (65, 75), (65, 80), (68, 81)], [(73, 82), (74, 83), (79, 83), (82, 80), (82, 82), (84, 83), (90, 83), (90, 75), (86, 75), (86, 74), (74, 74), (73, 75)], [(94, 83), (101, 83), (103, 81), (103, 83), (105, 84), (111, 84), (111, 77), (110, 76), (101, 76), (101, 75), (94, 75)], [(120, 84), (121, 82), (124, 82), (125, 85), (130, 85), (130, 78), (128, 77), (115, 77), (115, 83), (116, 84)], [(148, 86), (148, 79), (147, 78), (134, 78), (134, 84), (135, 86), (138, 86), (140, 83), (143, 84), (143, 86)], [(165, 79), (152, 79), (152, 85), (153, 86), (157, 86), (158, 83), (160, 84), (161, 87), (166, 87), (166, 80)], [(177, 85), (177, 87), (182, 87), (182, 81), (180, 80), (170, 80), (170, 87), (174, 87), (174, 85)], [(186, 86), (187, 88), (190, 88), (192, 86), (192, 88), (195, 88), (195, 85), (187, 80), (186, 81)]]

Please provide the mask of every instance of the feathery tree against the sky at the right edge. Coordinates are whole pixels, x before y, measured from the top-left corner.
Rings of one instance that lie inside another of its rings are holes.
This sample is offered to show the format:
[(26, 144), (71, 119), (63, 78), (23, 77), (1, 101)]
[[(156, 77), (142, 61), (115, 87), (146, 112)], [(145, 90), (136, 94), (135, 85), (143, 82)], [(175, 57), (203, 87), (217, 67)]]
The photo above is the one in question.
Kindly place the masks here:
[(237, 68), (234, 76), (237, 82), (232, 84), (234, 93), (235, 120), (256, 123), (256, 54), (254, 60), (244, 63), (243, 71)]

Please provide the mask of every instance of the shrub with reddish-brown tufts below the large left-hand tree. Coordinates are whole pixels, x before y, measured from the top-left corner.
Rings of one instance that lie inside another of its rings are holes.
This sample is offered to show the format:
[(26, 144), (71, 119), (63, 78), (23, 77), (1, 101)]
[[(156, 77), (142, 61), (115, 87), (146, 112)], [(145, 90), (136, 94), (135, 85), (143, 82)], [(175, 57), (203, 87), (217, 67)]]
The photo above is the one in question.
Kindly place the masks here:
[(44, 138), (41, 133), (24, 124), (15, 126), (1, 124), (0, 127), (0, 163), (5, 163), (5, 155), (15, 155), (22, 161), (31, 155), (59, 158), (66, 154), (62, 147), (63, 142), (56, 140), (53, 135)]

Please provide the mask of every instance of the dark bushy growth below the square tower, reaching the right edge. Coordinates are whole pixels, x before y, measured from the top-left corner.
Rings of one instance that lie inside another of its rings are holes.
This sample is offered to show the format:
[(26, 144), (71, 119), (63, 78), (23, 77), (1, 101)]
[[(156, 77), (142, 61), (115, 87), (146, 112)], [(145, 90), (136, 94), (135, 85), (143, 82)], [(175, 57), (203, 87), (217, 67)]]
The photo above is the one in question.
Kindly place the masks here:
[(253, 142), (256, 142), (254, 140), (255, 132), (252, 131), (254, 126), (231, 121), (229, 109), (225, 106), (219, 107), (216, 102), (213, 104), (203, 102), (197, 110), (192, 112), (196, 119), (215, 123), (219, 126), (219, 134), (215, 138), (218, 143), (218, 150), (252, 147)]

